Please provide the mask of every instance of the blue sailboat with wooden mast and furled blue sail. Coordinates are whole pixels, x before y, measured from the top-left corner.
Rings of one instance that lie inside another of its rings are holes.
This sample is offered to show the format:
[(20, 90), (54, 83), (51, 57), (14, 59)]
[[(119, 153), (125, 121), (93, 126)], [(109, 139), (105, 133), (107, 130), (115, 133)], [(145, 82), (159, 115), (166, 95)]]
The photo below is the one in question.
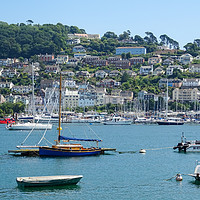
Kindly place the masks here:
[[(94, 156), (101, 153), (101, 148), (98, 147), (99, 139), (79, 139), (61, 136), (61, 85), (62, 77), (60, 74), (60, 95), (59, 95), (59, 124), (58, 124), (58, 139), (56, 144), (52, 147), (41, 146), (39, 147), (40, 156), (52, 156), (52, 157), (72, 157), (72, 156)], [(61, 141), (63, 143), (61, 144)], [(81, 144), (71, 144), (70, 141), (90, 141), (96, 142), (96, 147), (83, 147)], [(67, 143), (65, 143), (67, 142)]]

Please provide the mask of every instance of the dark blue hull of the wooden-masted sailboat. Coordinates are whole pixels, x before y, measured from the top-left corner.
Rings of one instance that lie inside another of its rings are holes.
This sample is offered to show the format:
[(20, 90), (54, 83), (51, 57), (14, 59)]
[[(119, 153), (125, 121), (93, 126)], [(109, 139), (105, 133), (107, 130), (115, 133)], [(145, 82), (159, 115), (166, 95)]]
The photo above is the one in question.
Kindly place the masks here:
[(51, 156), (51, 157), (78, 157), (78, 156), (96, 156), (101, 153), (101, 149), (94, 150), (66, 150), (57, 149), (51, 147), (39, 147), (40, 156)]

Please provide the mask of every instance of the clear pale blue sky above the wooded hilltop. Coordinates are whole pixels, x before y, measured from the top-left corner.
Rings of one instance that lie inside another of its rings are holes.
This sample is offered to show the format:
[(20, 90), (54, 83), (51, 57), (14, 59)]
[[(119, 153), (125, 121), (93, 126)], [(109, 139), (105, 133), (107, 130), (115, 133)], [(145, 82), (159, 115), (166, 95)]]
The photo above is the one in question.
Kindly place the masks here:
[(60, 22), (101, 36), (130, 30), (132, 36), (144, 37), (150, 31), (157, 38), (167, 34), (182, 48), (200, 38), (199, 8), (199, 0), (7, 0), (1, 2), (0, 21)]

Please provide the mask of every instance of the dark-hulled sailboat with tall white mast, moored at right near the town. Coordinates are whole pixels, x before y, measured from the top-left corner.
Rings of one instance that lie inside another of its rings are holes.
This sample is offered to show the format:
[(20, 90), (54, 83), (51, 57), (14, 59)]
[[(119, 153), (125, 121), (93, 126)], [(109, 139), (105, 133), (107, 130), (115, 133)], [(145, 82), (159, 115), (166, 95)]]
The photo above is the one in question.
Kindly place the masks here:
[(168, 79), (167, 79), (167, 94), (166, 94), (166, 116), (164, 119), (158, 120), (158, 125), (183, 125), (184, 122), (180, 118), (168, 118)]

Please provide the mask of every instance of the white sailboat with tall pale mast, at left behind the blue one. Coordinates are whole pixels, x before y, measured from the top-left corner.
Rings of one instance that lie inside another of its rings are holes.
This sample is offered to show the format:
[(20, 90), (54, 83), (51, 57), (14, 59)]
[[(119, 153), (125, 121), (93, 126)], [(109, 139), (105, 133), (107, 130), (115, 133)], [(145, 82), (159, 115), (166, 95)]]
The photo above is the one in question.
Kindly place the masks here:
[(52, 124), (42, 124), (35, 123), (35, 101), (34, 101), (34, 72), (32, 65), (32, 102), (33, 102), (33, 122), (25, 122), (25, 123), (10, 123), (7, 125), (8, 130), (50, 130), (52, 129)]

